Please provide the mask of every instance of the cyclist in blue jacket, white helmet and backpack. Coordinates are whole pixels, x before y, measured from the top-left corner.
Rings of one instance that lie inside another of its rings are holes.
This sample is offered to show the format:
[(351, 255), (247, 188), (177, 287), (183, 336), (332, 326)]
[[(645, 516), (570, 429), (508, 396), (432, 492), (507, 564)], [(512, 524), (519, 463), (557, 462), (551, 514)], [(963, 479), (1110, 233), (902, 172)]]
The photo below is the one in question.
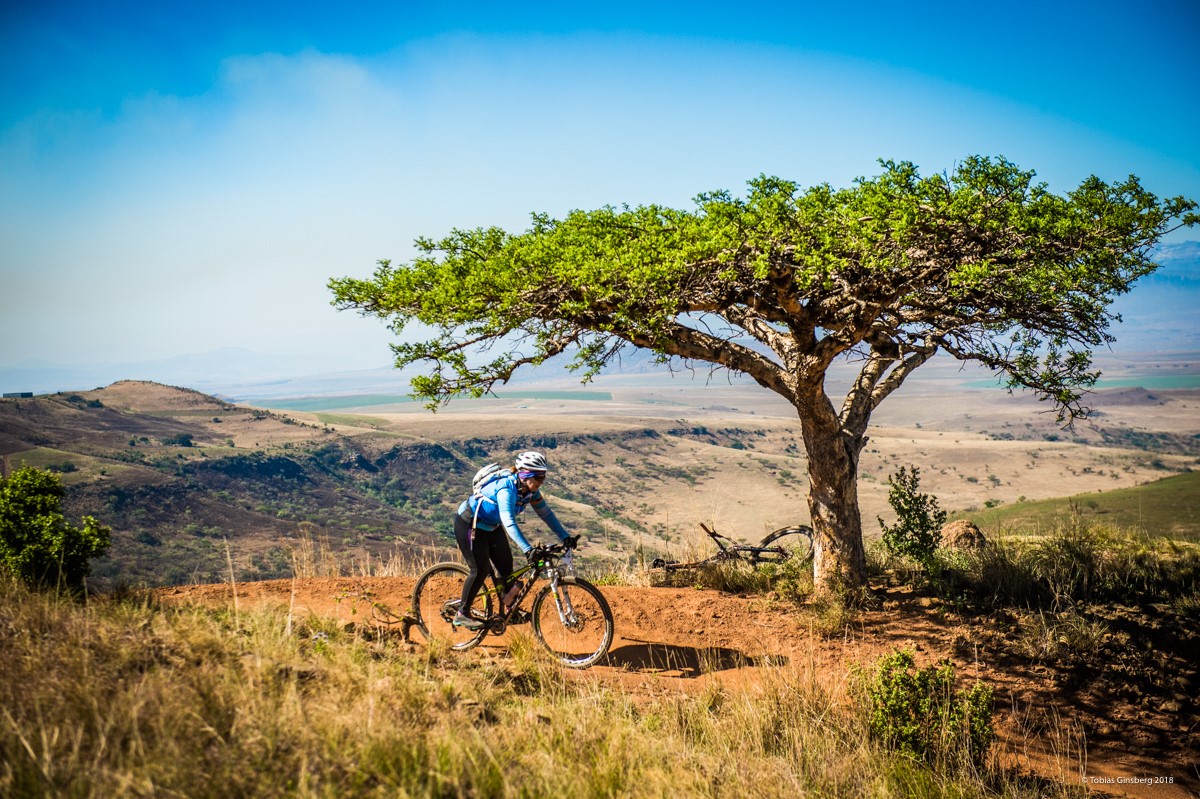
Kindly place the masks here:
[(454, 619), (456, 627), (479, 630), (484, 626), (482, 621), (472, 618), (470, 605), (484, 581), (492, 573), (493, 566), (504, 582), (512, 575), (512, 551), (505, 534), (521, 547), (526, 558), (533, 559), (534, 549), (517, 524), (517, 516), (526, 506), (533, 506), (534, 512), (568, 548), (575, 548), (578, 543), (578, 536), (566, 533), (554, 511), (542, 499), (540, 488), (546, 480), (546, 456), (541, 452), (522, 452), (509, 474), (485, 483), (458, 506), (454, 534), (470, 572), (462, 587), (462, 605)]

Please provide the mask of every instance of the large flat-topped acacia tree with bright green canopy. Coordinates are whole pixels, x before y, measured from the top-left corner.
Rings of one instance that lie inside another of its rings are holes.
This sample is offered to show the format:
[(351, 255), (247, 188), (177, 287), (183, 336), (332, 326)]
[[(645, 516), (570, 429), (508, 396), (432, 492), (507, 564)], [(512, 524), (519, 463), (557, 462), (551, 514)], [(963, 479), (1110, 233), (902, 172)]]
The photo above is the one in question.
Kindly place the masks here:
[[(1060, 196), (1003, 158), (923, 178), (907, 162), (848, 188), (779, 178), (744, 198), (535, 214), (524, 233), (419, 239), (408, 264), (330, 281), (334, 304), (421, 341), (431, 408), (482, 396), (524, 365), (568, 353), (583, 379), (629, 346), (750, 376), (799, 415), (817, 584), (865, 581), (858, 461), (871, 413), (936, 353), (1032, 390), (1069, 423), (1086, 413), (1091, 349), (1112, 341), (1110, 304), (1157, 269), (1153, 247), (1195, 224), (1195, 203), (1136, 178)], [(427, 335), (426, 335), (427, 334)], [(858, 376), (829, 396), (830, 367)]]

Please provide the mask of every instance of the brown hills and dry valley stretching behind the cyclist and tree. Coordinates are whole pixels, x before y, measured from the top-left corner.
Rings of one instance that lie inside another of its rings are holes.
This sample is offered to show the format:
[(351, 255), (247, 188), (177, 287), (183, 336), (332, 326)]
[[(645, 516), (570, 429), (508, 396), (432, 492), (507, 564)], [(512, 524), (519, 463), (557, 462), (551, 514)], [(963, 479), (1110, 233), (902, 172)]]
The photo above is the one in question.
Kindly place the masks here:
[[(113, 528), (94, 570), (101, 587), (212, 582), (229, 559), (240, 579), (289, 576), (295, 558), (314, 553), (350, 573), (419, 559), (451, 543), (450, 517), (481, 463), (534, 446), (551, 455), (546, 492), (590, 561), (707, 552), (702, 521), (744, 540), (806, 521), (798, 423), (770, 395), (641, 378), (598, 394), (535, 392), (438, 414), (412, 403), (282, 413), (120, 382), (0, 401), (0, 457), (8, 470), (58, 470), (68, 515)], [(1097, 426), (1066, 440), (997, 392), (898, 398), (863, 455), (865, 533), (889, 517), (887, 476), (907, 464), (956, 511), (1189, 469), (1193, 396), (1104, 395), (1103, 429), (1123, 432), (1109, 440)]]

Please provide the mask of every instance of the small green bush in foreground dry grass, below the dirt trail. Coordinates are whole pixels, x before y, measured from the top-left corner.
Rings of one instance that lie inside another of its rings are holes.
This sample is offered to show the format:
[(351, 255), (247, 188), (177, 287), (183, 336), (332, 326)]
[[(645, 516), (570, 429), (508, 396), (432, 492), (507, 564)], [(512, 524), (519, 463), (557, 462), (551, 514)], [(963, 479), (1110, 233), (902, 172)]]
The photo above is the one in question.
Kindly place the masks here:
[(990, 686), (955, 692), (952, 663), (918, 669), (912, 651), (900, 649), (859, 669), (856, 689), (871, 735), (886, 745), (935, 767), (984, 765), (996, 739)]

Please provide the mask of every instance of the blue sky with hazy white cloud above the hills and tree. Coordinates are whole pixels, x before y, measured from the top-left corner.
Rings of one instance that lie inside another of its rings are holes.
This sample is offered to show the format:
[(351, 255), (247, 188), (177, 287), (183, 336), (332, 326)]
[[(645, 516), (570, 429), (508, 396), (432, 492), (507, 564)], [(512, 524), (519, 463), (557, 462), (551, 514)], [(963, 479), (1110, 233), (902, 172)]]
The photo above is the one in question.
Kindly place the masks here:
[(0, 366), (384, 365), (329, 277), (760, 173), (979, 152), (1200, 198), (1195, 0), (331, 5), (2, 5)]

